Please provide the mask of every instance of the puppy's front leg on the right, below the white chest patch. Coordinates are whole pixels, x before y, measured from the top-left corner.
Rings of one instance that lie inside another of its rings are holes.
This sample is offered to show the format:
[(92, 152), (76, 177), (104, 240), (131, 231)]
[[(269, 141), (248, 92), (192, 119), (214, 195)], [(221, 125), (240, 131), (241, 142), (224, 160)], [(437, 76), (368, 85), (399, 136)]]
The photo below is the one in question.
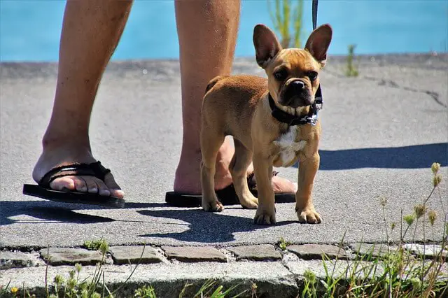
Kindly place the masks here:
[(314, 177), (319, 168), (321, 157), (315, 152), (311, 157), (300, 156), (298, 189), (295, 193), (295, 213), (300, 222), (321, 223), (321, 215), (314, 209), (311, 192), (314, 185)]

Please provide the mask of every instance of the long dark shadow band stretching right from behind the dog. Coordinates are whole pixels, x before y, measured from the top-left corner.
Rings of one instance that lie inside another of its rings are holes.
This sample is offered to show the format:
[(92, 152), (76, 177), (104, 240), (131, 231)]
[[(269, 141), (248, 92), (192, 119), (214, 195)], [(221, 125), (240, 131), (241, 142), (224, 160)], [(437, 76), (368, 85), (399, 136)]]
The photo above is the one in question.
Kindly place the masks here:
[[(429, 132), (428, 132), (429, 133)], [(390, 148), (362, 148), (348, 150), (319, 150), (319, 170), (347, 170), (360, 168), (423, 169), (433, 162), (448, 165), (448, 143), (433, 143)], [(294, 165), (297, 167), (297, 164)]]

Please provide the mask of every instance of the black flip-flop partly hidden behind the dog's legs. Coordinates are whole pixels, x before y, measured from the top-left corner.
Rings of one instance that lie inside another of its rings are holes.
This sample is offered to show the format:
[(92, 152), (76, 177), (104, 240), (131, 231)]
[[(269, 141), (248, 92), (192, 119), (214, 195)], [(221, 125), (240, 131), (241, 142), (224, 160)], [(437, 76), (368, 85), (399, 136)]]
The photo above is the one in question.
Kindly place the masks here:
[[(279, 172), (273, 171), (272, 176), (276, 176)], [(249, 173), (247, 176), (247, 185), (252, 194), (257, 197), (257, 183), (255, 181), (254, 173)], [(230, 184), (228, 187), (222, 190), (216, 190), (216, 197), (223, 205), (237, 205), (239, 204), (239, 199), (235, 187)], [(201, 194), (184, 194), (181, 192), (167, 192), (165, 194), (165, 201), (167, 204), (175, 207), (200, 207), (202, 201)], [(291, 203), (295, 202), (294, 193), (276, 193), (275, 194), (276, 203)]]

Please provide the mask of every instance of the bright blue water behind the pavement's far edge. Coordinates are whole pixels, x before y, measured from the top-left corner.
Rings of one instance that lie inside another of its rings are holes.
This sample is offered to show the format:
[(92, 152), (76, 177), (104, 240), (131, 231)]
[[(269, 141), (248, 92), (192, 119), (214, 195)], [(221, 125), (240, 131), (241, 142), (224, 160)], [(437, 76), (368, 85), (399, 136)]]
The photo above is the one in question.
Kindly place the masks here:
[[(226, 0), (224, 0), (226, 1)], [(230, 0), (227, 0), (230, 1)], [(272, 3), (273, 4), (273, 3)], [(0, 61), (57, 61), (65, 1), (0, 0)], [(331, 55), (447, 52), (447, 0), (321, 0), (318, 23), (332, 24)], [(272, 27), (266, 0), (243, 0), (237, 57), (254, 55), (253, 26)], [(311, 31), (311, 1), (304, 3)], [(178, 58), (174, 1), (137, 0), (113, 60)]]

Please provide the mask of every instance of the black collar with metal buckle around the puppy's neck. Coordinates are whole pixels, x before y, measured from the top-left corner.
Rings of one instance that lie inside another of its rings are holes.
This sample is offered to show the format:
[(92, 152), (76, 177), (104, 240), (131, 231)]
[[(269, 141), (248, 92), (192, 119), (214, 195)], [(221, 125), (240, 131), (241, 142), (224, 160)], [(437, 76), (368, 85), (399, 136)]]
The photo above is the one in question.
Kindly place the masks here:
[(279, 120), (280, 122), (286, 123), (288, 126), (295, 126), (295, 125), (316, 125), (318, 120), (318, 111), (322, 109), (322, 92), (321, 92), (321, 86), (319, 85), (316, 95), (314, 96), (314, 104), (311, 104), (311, 107), (309, 108), (308, 115), (302, 115), (302, 116), (294, 116), (290, 113), (286, 113), (285, 111), (281, 111), (281, 109), (277, 108), (275, 105), (274, 99), (272, 98), (271, 94), (269, 93), (269, 106), (272, 110), (272, 117), (274, 117), (276, 120)]

